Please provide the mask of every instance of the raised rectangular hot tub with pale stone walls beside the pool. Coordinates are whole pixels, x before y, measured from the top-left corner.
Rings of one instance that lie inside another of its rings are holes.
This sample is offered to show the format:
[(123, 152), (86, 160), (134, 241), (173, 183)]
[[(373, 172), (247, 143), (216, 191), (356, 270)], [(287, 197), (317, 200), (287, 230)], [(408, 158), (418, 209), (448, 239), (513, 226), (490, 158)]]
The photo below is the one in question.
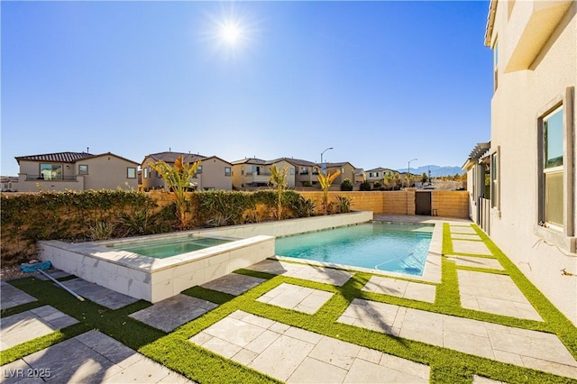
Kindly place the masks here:
[[(165, 254), (167, 246), (170, 255)], [(205, 237), (190, 231), (101, 242), (39, 242), (38, 249), (40, 259), (55, 268), (156, 303), (274, 256), (274, 237)]]

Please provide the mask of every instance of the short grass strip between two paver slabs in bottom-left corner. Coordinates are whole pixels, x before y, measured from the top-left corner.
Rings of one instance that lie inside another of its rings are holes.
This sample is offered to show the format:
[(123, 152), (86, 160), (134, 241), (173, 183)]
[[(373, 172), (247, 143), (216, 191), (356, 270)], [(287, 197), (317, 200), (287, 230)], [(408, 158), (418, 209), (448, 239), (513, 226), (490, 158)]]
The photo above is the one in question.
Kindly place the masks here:
[(62, 328), (50, 334), (36, 337), (26, 343), (14, 345), (14, 347), (0, 352), (0, 365), (5, 365), (9, 362), (16, 361), (23, 358), (24, 356), (28, 356), (29, 354), (41, 351), (44, 348), (48, 348), (50, 345), (63, 342), (71, 337), (78, 336), (78, 334), (84, 334), (89, 330), (90, 327), (88, 325), (79, 323), (67, 326), (66, 328)]

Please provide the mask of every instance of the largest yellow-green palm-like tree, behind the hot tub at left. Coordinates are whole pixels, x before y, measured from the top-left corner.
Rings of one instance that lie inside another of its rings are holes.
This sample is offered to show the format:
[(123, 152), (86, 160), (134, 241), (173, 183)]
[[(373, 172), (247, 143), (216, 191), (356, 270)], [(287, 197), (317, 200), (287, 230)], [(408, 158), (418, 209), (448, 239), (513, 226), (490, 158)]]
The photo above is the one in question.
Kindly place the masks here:
[(197, 173), (200, 160), (194, 163), (184, 163), (182, 156), (174, 161), (174, 166), (167, 164), (162, 160), (151, 162), (151, 169), (159, 172), (160, 177), (164, 178), (169, 190), (174, 193), (177, 203), (177, 216), (179, 217), (180, 229), (186, 229), (188, 226), (187, 211), (188, 197), (187, 192), (194, 188), (192, 178)]

